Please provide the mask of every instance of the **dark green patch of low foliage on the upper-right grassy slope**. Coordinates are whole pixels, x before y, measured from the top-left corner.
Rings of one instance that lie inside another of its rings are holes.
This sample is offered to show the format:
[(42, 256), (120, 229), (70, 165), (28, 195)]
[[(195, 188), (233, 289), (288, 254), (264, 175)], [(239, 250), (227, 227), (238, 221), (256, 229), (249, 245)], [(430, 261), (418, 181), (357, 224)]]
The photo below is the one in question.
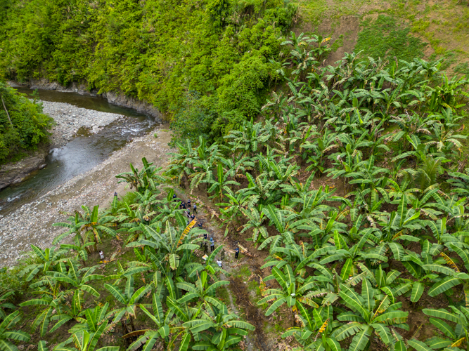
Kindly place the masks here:
[(359, 32), (355, 51), (361, 58), (393, 58), (413, 60), (423, 56), (423, 44), (420, 39), (409, 35), (411, 29), (401, 24), (396, 18), (379, 15), (376, 20), (365, 20)]

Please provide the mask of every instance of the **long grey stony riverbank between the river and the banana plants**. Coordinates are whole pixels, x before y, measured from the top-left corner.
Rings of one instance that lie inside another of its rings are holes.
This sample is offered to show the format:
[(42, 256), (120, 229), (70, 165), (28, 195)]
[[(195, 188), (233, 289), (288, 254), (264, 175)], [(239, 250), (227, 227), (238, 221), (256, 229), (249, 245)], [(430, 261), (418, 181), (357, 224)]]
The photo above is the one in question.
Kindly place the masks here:
[[(155, 133), (158, 138), (154, 137)], [(135, 138), (91, 171), (72, 178), (8, 216), (0, 216), (0, 266), (15, 265), (25, 251), (31, 250), (31, 244), (43, 249), (51, 246), (53, 238), (65, 230), (52, 224), (65, 221), (66, 213), (82, 211), (82, 205), (103, 208), (110, 204), (115, 191), (119, 194), (127, 191), (124, 184), (117, 184), (115, 176), (129, 171), (130, 162), (141, 168), (141, 158), (146, 157), (156, 166), (165, 166), (168, 153), (174, 152), (167, 146), (169, 140), (169, 132), (155, 129)]]

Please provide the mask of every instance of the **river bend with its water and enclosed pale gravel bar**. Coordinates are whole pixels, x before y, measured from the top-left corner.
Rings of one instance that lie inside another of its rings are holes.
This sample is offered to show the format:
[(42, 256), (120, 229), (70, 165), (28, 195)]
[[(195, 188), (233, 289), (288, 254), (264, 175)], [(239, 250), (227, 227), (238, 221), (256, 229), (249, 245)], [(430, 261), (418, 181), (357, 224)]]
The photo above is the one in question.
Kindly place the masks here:
[[(17, 89), (32, 93), (27, 88)], [(3, 216), (91, 170), (133, 138), (160, 125), (154, 117), (111, 105), (99, 96), (39, 91), (39, 99), (44, 101), (44, 112), (58, 121), (51, 135), (53, 147), (43, 169), (0, 192)]]

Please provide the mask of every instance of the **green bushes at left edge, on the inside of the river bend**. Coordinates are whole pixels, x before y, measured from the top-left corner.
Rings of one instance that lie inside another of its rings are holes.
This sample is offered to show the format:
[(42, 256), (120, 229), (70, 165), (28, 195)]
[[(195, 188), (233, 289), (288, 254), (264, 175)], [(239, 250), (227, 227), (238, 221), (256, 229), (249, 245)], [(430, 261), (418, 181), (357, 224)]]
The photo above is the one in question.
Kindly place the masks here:
[(0, 81), (0, 164), (20, 159), (47, 140), (53, 119), (42, 106)]

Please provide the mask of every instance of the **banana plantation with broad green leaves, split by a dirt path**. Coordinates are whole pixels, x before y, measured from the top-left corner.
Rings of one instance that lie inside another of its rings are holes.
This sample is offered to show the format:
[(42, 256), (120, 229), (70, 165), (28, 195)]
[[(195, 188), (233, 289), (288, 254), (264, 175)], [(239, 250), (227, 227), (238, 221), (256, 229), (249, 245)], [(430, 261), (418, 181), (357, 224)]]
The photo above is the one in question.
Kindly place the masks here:
[[(57, 223), (66, 231), (33, 246), (22, 272), (31, 329), (15, 327), (13, 292), (1, 297), (0, 350), (30, 333), (39, 350), (245, 350), (255, 326), (217, 295), (230, 289), (214, 263), (224, 245), (200, 258), (207, 232), (187, 225), (181, 191), (206, 199), (224, 235), (264, 260), (256, 307), (292, 321), (278, 333), (288, 350), (469, 350), (469, 81), (440, 61), (359, 53), (325, 67), (327, 42), (283, 41), (285, 84), (224, 143), (176, 143), (166, 168), (143, 159), (117, 176), (132, 203), (115, 197)], [(98, 274), (89, 254), (111, 239), (133, 259)], [(59, 329), (66, 340), (46, 343)], [(116, 329), (122, 338), (105, 345)]]

